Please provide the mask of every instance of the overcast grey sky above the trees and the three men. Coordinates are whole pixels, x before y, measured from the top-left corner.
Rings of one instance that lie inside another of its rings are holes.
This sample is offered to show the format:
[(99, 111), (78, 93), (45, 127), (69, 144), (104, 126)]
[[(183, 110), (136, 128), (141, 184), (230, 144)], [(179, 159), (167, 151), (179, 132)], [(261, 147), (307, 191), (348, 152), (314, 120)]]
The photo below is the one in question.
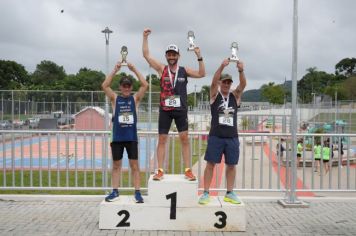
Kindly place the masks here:
[[(299, 0), (298, 79), (310, 67), (334, 73), (341, 59), (356, 57), (355, 11), (355, 0)], [(143, 29), (149, 27), (153, 57), (165, 62), (166, 46), (175, 43), (179, 64), (198, 68), (194, 52), (186, 50), (187, 32), (193, 30), (207, 75), (191, 79), (189, 91), (210, 85), (233, 41), (245, 63), (246, 89), (257, 89), (291, 79), (292, 21), (293, 0), (0, 0), (0, 59), (29, 72), (42, 60), (63, 66), (67, 74), (82, 67), (105, 72), (101, 30), (108, 26), (110, 70), (126, 45), (128, 61), (146, 75), (150, 69), (141, 48)], [(234, 67), (226, 72), (236, 85)]]

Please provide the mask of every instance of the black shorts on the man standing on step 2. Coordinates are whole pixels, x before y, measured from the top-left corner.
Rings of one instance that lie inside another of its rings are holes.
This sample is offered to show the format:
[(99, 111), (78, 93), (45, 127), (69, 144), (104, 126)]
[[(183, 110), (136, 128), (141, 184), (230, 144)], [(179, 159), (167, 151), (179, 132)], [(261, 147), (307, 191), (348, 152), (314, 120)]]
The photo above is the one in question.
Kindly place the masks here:
[(127, 156), (130, 160), (138, 159), (138, 144), (135, 141), (129, 142), (112, 142), (111, 154), (114, 161), (119, 161), (122, 159), (124, 154), (124, 149), (126, 148)]

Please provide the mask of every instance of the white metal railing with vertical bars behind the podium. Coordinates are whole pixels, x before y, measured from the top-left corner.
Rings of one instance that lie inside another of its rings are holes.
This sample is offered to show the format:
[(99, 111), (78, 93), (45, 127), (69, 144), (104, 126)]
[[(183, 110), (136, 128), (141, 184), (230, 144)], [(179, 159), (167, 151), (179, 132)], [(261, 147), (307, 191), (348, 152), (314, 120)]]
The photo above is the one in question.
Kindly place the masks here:
[[(190, 132), (192, 168), (202, 186), (207, 132)], [(303, 154), (297, 171), (297, 189), (302, 192), (356, 191), (356, 134), (298, 134)], [(292, 158), (288, 133), (240, 133), (240, 160), (235, 189), (239, 191), (285, 191)], [(317, 138), (316, 138), (317, 137)], [(333, 158), (316, 166), (312, 150), (316, 139), (333, 141)], [(286, 152), (276, 155), (281, 139)], [(344, 155), (338, 148), (343, 140)], [(110, 132), (3, 130), (0, 135), (0, 190), (108, 190), (111, 188)], [(142, 188), (156, 169), (157, 131), (139, 131), (139, 162)], [(183, 173), (177, 132), (167, 144), (165, 170)], [(342, 165), (343, 164), (343, 165)], [(316, 169), (316, 167), (318, 169)], [(321, 173), (321, 174), (319, 174)], [(217, 165), (212, 190), (225, 189), (224, 166)], [(120, 189), (132, 190), (127, 157), (123, 158)]]

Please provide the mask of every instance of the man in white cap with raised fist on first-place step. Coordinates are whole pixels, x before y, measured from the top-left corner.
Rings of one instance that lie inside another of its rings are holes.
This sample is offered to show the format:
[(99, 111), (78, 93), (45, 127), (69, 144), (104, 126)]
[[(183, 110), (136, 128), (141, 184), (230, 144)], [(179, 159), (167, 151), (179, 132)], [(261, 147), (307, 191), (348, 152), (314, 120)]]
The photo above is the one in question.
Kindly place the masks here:
[(174, 120), (179, 138), (182, 144), (183, 161), (185, 165), (185, 177), (188, 180), (195, 180), (196, 177), (190, 168), (190, 144), (188, 138), (188, 109), (187, 109), (187, 83), (188, 77), (202, 78), (205, 76), (205, 66), (200, 49), (194, 49), (198, 58), (199, 70), (178, 66), (179, 49), (176, 45), (170, 44), (166, 49), (166, 60), (168, 65), (164, 65), (152, 58), (148, 49), (148, 35), (150, 29), (143, 31), (142, 52), (148, 64), (154, 68), (161, 78), (160, 109), (158, 120), (159, 139), (157, 145), (158, 170), (153, 176), (154, 180), (163, 178), (163, 163), (166, 153), (166, 143), (168, 132)]

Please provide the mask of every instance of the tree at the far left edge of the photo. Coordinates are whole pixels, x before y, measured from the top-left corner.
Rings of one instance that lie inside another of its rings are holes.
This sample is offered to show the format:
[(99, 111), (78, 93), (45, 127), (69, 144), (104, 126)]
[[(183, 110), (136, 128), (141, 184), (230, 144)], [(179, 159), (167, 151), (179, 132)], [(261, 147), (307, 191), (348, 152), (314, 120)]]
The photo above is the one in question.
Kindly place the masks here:
[(0, 88), (24, 89), (29, 84), (30, 77), (25, 67), (14, 61), (0, 60)]

